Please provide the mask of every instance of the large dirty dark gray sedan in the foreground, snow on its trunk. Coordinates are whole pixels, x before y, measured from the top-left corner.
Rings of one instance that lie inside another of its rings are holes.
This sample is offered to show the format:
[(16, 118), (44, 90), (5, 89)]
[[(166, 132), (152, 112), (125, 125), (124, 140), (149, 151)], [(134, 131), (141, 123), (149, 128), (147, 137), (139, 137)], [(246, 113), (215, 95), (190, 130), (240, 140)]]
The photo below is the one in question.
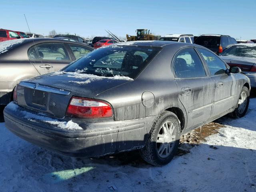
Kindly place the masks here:
[(14, 134), (62, 154), (138, 149), (163, 166), (181, 134), (228, 113), (246, 114), (250, 83), (240, 71), (195, 44), (118, 43), (20, 82), (4, 118)]

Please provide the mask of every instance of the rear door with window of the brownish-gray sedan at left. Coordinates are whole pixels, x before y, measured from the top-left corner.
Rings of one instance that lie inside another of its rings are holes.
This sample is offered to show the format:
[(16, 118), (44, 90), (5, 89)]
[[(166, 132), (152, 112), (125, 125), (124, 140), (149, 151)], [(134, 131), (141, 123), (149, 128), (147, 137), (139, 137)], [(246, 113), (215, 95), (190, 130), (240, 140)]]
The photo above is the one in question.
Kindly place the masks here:
[(63, 43), (42, 43), (28, 50), (28, 58), (40, 74), (47, 74), (64, 68), (71, 62)]

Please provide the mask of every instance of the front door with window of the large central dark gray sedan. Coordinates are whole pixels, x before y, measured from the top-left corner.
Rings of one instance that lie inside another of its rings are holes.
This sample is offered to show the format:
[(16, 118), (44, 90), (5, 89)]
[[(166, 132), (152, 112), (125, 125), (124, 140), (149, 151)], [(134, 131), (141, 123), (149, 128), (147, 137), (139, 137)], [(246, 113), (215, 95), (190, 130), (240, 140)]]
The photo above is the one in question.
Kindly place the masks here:
[(236, 84), (236, 74), (226, 74), (227, 66), (216, 54), (204, 48), (197, 49), (204, 58), (214, 81), (212, 117), (219, 116), (236, 104), (236, 95), (239, 88)]

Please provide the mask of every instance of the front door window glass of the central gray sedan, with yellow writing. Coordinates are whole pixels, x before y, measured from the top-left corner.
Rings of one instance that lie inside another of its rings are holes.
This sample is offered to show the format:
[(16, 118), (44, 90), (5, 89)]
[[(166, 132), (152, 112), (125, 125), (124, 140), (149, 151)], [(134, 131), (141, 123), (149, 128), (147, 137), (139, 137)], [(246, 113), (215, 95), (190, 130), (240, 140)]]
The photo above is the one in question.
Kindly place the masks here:
[(211, 75), (219, 75), (219, 74), (226, 73), (226, 69), (227, 69), (226, 64), (220, 58), (218, 58), (218, 56), (216, 56), (214, 53), (206, 49), (202, 49), (202, 48), (197, 48), (197, 49), (204, 57), (204, 60), (208, 65)]

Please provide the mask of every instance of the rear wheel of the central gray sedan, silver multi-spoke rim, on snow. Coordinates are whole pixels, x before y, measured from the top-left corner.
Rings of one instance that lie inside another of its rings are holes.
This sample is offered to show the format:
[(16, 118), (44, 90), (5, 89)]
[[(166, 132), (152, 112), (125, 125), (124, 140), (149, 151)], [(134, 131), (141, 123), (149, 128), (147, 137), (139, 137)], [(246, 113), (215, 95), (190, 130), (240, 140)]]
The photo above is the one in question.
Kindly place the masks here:
[(172, 112), (160, 114), (148, 135), (144, 148), (140, 150), (142, 158), (155, 166), (168, 164), (178, 149), (180, 142), (180, 123)]

